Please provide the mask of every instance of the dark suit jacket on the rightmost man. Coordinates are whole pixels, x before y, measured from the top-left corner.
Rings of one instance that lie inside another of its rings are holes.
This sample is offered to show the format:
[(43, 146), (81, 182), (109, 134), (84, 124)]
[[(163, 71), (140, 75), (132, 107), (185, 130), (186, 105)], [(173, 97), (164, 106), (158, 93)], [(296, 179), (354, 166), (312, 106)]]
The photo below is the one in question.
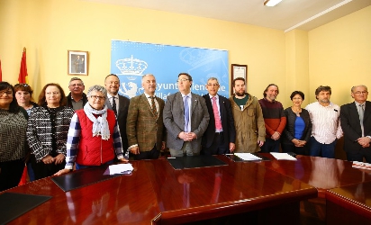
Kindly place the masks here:
[[(371, 136), (371, 102), (366, 101), (363, 126), (365, 137)], [(356, 103), (347, 103), (340, 107), (340, 125), (344, 133), (344, 150), (358, 151), (362, 147), (357, 139), (362, 137), (361, 125)], [(371, 147), (366, 148), (371, 150)]]

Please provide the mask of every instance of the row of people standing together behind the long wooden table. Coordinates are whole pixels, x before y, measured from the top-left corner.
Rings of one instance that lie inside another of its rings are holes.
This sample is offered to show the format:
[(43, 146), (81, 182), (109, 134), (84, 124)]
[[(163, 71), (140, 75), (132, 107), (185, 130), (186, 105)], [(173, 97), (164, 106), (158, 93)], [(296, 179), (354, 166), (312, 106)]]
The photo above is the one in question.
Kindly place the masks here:
[[(278, 86), (267, 85), (263, 98), (246, 92), (245, 79), (232, 82), (229, 99), (218, 94), (210, 77), (204, 96), (191, 92), (192, 76), (180, 73), (178, 92), (158, 98), (156, 77), (141, 78), (143, 94), (118, 94), (119, 77), (110, 74), (104, 86), (84, 93), (74, 77), (66, 96), (60, 85), (45, 85), (37, 103), (27, 84), (0, 82), (0, 191), (16, 186), (26, 163), (30, 180), (62, 175), (74, 168), (171, 157), (232, 152), (294, 152), (334, 157), (344, 132), (348, 160), (371, 163), (371, 104), (365, 85), (352, 87), (354, 103), (330, 102), (330, 86), (319, 86), (317, 102), (302, 108), (304, 94), (294, 91), (292, 106), (276, 101)], [(359, 106), (361, 105), (361, 106)]]

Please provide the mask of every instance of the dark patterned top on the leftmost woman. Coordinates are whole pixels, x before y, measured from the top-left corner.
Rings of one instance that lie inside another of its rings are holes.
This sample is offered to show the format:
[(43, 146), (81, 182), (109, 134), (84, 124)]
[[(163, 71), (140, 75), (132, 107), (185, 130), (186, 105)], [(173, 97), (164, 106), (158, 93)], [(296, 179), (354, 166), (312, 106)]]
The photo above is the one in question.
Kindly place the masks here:
[(27, 119), (18, 113), (0, 109), (0, 162), (23, 158), (25, 155)]

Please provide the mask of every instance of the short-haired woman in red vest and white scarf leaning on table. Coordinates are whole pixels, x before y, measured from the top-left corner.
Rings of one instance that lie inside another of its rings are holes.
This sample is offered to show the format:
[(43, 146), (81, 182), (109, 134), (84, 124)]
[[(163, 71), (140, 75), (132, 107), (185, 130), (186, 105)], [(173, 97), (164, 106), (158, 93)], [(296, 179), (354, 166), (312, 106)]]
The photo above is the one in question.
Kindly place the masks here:
[(101, 166), (128, 160), (122, 154), (122, 140), (113, 110), (105, 105), (107, 91), (104, 86), (93, 85), (87, 91), (84, 109), (77, 110), (68, 130), (67, 164), (56, 175), (76, 169)]

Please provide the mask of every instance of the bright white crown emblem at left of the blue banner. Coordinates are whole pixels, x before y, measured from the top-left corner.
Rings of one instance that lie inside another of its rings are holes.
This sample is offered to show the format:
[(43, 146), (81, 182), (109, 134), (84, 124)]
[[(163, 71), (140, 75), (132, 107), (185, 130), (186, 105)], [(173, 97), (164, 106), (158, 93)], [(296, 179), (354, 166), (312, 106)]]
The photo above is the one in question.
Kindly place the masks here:
[(116, 61), (116, 67), (120, 69), (122, 75), (141, 76), (148, 67), (147, 62), (134, 58), (122, 58)]

